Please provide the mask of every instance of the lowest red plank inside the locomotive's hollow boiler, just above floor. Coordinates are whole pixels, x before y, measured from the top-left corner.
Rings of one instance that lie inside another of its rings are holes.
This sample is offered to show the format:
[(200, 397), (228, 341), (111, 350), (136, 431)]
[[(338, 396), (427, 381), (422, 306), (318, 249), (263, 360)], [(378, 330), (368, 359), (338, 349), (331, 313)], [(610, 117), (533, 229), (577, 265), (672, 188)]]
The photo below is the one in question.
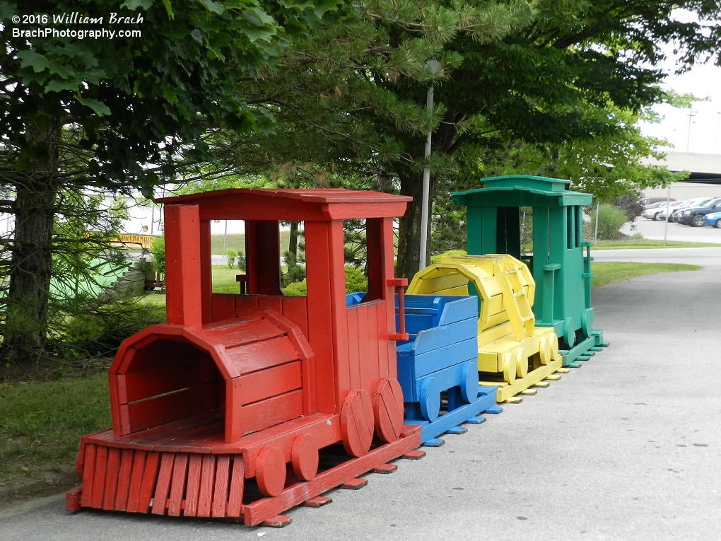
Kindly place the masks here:
[(171, 395), (123, 405), (120, 410), (127, 411), (131, 432), (136, 432), (212, 410), (218, 408), (218, 405), (217, 386), (211, 382)]

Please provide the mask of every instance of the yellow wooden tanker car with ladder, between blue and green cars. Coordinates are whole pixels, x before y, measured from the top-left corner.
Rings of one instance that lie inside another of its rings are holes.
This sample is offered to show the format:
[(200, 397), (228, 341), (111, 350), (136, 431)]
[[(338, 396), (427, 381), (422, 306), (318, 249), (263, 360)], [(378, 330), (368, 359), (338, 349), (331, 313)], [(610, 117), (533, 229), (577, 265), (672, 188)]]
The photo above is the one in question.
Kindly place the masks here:
[(415, 275), (408, 294), (478, 297), (478, 371), (482, 385), (498, 387), (498, 402), (562, 366), (553, 327), (536, 327), (536, 283), (528, 267), (505, 254), (449, 255)]

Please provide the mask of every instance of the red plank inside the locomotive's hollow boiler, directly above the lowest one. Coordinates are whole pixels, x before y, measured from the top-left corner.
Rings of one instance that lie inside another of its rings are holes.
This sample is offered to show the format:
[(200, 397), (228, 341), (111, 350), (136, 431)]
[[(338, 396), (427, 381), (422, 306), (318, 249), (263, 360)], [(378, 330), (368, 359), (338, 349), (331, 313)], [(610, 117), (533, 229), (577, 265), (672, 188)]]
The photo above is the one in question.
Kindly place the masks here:
[(192, 361), (133, 372), (119, 377), (125, 379), (123, 403), (129, 403), (185, 387), (195, 387), (198, 384), (216, 381), (218, 369), (216, 369), (213, 359), (204, 355)]

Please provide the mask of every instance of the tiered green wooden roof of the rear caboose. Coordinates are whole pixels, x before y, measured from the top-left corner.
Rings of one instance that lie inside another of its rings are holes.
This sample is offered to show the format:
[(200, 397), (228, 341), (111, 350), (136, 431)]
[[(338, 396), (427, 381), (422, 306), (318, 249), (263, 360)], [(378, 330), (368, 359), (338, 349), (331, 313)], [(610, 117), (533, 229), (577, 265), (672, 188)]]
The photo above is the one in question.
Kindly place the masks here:
[(570, 180), (507, 175), (486, 177), (485, 188), (451, 193), (459, 206), (532, 206), (557, 207), (590, 205), (593, 195), (567, 190)]

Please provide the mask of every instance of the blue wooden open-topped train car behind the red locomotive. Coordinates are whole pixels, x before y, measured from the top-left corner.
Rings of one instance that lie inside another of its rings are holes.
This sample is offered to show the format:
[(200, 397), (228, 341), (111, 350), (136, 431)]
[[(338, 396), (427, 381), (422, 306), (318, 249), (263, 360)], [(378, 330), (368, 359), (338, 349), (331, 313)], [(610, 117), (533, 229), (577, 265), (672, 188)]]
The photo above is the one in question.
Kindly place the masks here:
[[(475, 296), (406, 295), (409, 340), (396, 343), (398, 382), (407, 424), (423, 426), (425, 445), (438, 436), (466, 431), (462, 423), (482, 423), (480, 413), (500, 413), (496, 387), (478, 384), (478, 299)], [(362, 293), (346, 296), (358, 304)], [(398, 317), (398, 315), (396, 316)]]

